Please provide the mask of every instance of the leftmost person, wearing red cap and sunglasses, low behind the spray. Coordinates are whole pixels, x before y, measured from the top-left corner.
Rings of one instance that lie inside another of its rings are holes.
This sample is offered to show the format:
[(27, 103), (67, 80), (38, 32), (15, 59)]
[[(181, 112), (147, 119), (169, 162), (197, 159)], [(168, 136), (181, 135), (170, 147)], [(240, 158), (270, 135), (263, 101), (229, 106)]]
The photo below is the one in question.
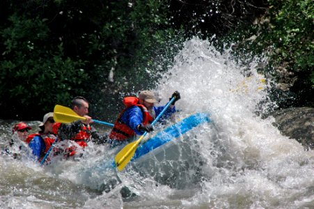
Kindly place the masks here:
[(20, 157), (20, 153), (23, 150), (23, 147), (26, 149), (26, 139), (29, 136), (29, 130), (31, 126), (27, 125), (24, 122), (15, 123), (12, 127), (12, 138), (10, 143), (4, 148), (4, 151), (12, 155), (14, 159)]

